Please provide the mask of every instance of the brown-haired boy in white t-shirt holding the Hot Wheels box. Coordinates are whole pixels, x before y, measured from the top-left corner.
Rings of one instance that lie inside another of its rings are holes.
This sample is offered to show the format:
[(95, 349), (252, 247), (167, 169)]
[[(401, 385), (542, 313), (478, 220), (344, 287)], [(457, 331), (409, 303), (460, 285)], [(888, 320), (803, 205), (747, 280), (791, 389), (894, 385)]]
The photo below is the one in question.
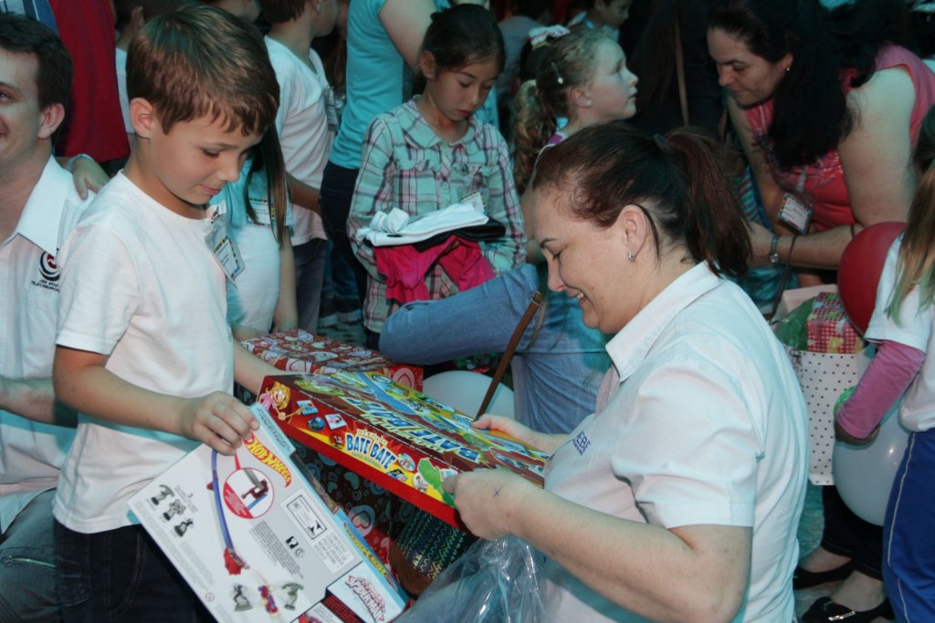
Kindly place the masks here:
[(222, 10), (148, 21), (128, 50), (137, 143), (68, 236), (53, 383), (79, 411), (57, 489), (65, 620), (209, 620), (127, 500), (204, 442), (232, 454), (257, 424), (231, 395), (276, 371), (237, 345), (225, 279), (241, 266), (209, 199), (273, 122), (262, 43)]

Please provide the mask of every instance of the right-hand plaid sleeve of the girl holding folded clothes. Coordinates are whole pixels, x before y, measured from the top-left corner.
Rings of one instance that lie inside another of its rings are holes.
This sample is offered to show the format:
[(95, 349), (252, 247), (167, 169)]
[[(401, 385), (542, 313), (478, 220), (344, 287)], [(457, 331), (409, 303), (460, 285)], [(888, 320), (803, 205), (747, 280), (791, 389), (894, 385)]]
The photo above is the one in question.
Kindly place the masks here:
[[(490, 130), (490, 132), (496, 132)], [(487, 215), (507, 228), (496, 243), (484, 243), (483, 254), (496, 274), (511, 270), (525, 262), (526, 235), (523, 208), (513, 184), (507, 144), (496, 136), (496, 171), (485, 181), (487, 184)]]

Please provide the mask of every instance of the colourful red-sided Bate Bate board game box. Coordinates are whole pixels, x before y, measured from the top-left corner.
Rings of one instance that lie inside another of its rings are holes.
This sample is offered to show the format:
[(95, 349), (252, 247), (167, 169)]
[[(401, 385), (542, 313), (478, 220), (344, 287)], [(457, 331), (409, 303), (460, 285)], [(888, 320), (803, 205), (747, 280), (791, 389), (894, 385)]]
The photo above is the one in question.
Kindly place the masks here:
[(270, 376), (258, 400), (299, 443), (458, 528), (447, 475), (502, 466), (542, 486), (548, 455), (377, 372)]

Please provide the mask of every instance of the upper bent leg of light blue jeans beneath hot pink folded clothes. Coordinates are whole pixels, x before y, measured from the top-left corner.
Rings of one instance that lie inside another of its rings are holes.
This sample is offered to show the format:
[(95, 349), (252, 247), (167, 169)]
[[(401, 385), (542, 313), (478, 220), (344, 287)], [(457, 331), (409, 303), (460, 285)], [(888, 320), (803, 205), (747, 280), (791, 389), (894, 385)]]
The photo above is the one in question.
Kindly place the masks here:
[[(447, 299), (405, 304), (383, 326), (380, 351), (419, 365), (503, 352), (538, 288), (536, 268), (523, 264)], [(536, 321), (518, 349), (524, 349)]]

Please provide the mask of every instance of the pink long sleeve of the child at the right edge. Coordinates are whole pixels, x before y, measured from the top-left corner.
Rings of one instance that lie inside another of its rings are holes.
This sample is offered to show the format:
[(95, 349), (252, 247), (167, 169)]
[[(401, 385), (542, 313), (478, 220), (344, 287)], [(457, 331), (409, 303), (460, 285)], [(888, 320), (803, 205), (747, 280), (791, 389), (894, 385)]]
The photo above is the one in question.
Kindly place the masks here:
[(854, 394), (841, 405), (837, 418), (844, 432), (857, 439), (870, 435), (919, 374), (925, 360), (926, 354), (918, 348), (884, 340)]

